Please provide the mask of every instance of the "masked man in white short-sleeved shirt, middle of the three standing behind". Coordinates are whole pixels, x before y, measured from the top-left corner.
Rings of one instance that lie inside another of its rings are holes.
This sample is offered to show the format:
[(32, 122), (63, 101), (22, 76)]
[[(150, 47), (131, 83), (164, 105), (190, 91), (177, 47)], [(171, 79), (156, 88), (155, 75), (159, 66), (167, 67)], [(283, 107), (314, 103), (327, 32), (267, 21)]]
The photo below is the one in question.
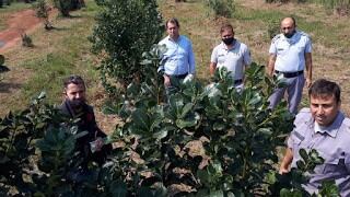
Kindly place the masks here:
[(234, 38), (231, 24), (222, 25), (220, 30), (222, 43), (212, 50), (210, 58), (210, 73), (214, 74), (217, 68), (224, 67), (231, 72), (236, 89), (243, 88), (244, 70), (249, 66), (250, 51), (248, 47)]

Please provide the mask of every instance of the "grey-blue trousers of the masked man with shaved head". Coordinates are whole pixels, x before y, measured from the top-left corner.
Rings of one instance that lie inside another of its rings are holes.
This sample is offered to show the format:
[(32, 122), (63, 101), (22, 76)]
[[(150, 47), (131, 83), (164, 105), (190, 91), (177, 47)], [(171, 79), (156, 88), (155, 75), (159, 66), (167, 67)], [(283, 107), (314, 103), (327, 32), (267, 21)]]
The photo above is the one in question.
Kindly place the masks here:
[(292, 114), (298, 113), (298, 106), (302, 101), (303, 88), (305, 83), (305, 78), (300, 74), (294, 78), (284, 78), (287, 86), (275, 89), (273, 93), (269, 97), (270, 108), (275, 108), (283, 99), (284, 93), (288, 93), (288, 108)]

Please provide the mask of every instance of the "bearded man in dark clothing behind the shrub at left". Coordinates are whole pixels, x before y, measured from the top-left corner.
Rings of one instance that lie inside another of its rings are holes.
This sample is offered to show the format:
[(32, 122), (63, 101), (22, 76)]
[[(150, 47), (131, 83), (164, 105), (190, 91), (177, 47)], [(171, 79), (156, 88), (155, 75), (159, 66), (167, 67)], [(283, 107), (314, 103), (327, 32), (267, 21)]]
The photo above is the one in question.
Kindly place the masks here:
[[(91, 161), (100, 166), (106, 161), (107, 154), (112, 151), (112, 144), (104, 144), (103, 138), (106, 135), (98, 128), (93, 107), (86, 104), (86, 86), (80, 76), (70, 76), (63, 81), (65, 100), (59, 106), (62, 114), (72, 119), (78, 119), (79, 131), (88, 134), (77, 139), (77, 149), (82, 155), (82, 170), (88, 170)], [(94, 152), (91, 150), (91, 142), (95, 144)]]

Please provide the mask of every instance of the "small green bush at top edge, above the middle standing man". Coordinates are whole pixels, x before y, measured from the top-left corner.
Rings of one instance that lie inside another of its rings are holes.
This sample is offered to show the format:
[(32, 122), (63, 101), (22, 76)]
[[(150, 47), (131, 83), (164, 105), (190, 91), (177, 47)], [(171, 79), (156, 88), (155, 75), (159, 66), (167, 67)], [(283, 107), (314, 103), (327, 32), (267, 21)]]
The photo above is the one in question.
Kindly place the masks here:
[(205, 0), (206, 4), (212, 9), (215, 16), (232, 18), (235, 11), (233, 0)]

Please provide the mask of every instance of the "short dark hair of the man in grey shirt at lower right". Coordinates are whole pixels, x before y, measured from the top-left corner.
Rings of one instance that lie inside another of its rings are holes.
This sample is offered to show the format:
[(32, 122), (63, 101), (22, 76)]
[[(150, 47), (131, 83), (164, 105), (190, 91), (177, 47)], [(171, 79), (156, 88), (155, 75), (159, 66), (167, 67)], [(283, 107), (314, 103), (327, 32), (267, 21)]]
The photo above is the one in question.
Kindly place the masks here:
[(337, 103), (340, 102), (340, 86), (332, 81), (318, 79), (308, 89), (308, 97), (323, 97), (329, 95), (335, 96)]

